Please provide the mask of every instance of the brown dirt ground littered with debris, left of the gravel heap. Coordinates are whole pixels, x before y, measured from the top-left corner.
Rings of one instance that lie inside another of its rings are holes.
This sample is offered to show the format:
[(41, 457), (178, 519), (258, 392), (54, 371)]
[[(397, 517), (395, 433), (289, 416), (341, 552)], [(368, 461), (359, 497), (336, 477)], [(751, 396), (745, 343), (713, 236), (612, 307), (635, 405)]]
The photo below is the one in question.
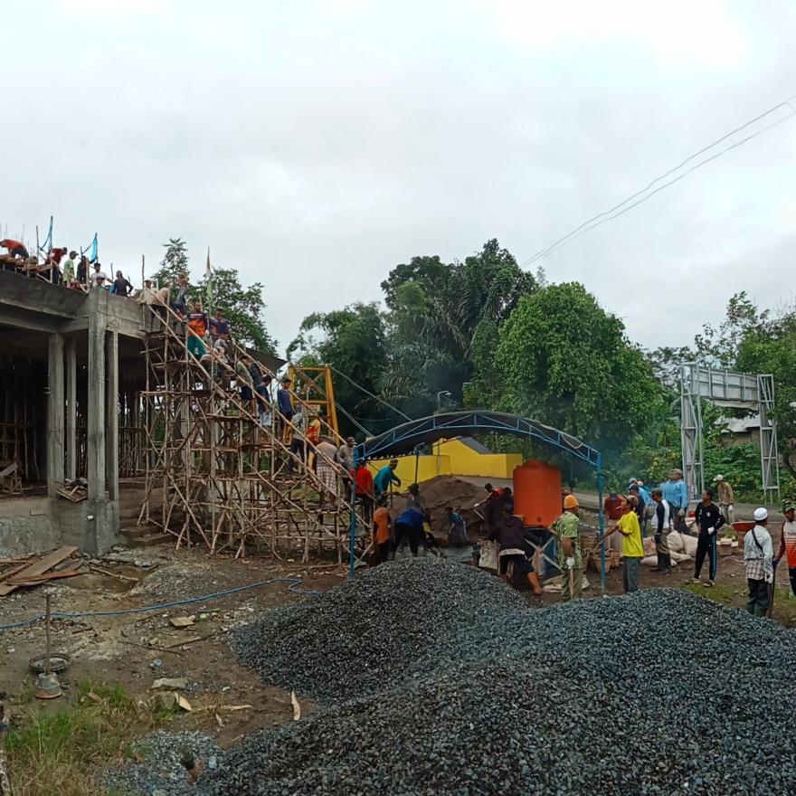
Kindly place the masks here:
[[(336, 566), (302, 568), (264, 560), (210, 559), (195, 548), (135, 550), (121, 556), (130, 562), (98, 562), (116, 577), (91, 573), (53, 582), (52, 610), (126, 611), (276, 577), (299, 577), (305, 588), (322, 591), (347, 576), (345, 568)], [(170, 609), (53, 620), (52, 650), (71, 656), (71, 666), (61, 677), (67, 690), (88, 678), (121, 684), (130, 693), (148, 698), (154, 694), (156, 678), (187, 678), (188, 688), (182, 693), (194, 707), (194, 715), (186, 715), (184, 724), (230, 743), (256, 727), (291, 720), (292, 706), (289, 693), (262, 687), (250, 669), (237, 664), (224, 631), (261, 611), (302, 599), (307, 598), (289, 592), (287, 584), (276, 584)], [(43, 610), (43, 587), (19, 589), (0, 600), (0, 625), (23, 621)], [(194, 624), (177, 630), (169, 621), (176, 617), (193, 617)], [(41, 702), (33, 696), (35, 675), (28, 661), (43, 655), (44, 649), (43, 622), (0, 632), (0, 699), (15, 721), (24, 722), (28, 713), (62, 704), (62, 700)], [(311, 707), (301, 695), (299, 700), (302, 709)], [(229, 709), (241, 705), (251, 707)], [(180, 723), (174, 728), (180, 729)]]

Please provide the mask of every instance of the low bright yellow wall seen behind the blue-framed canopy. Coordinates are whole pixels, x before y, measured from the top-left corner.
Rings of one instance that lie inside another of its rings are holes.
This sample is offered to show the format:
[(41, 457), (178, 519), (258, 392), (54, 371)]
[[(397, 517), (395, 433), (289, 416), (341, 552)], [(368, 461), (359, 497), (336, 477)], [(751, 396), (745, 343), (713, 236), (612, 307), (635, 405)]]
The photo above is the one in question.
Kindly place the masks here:
[[(470, 437), (435, 442), (433, 450), (432, 454), (399, 458), (395, 474), (404, 487), (415, 480), (422, 484), (437, 476), (476, 476), (510, 481), (514, 469), (523, 462), (521, 453), (491, 453)], [(388, 459), (374, 460), (370, 467), (377, 472), (388, 463)]]

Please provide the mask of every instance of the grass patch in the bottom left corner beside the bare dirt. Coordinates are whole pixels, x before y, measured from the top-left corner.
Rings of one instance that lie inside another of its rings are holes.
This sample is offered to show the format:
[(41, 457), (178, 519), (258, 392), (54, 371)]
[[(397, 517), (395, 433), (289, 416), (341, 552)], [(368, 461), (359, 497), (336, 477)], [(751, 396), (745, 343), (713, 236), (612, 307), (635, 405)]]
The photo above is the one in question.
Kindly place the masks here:
[(69, 703), (41, 709), (5, 739), (14, 796), (100, 794), (98, 769), (130, 755), (136, 739), (172, 715), (118, 686), (85, 680)]

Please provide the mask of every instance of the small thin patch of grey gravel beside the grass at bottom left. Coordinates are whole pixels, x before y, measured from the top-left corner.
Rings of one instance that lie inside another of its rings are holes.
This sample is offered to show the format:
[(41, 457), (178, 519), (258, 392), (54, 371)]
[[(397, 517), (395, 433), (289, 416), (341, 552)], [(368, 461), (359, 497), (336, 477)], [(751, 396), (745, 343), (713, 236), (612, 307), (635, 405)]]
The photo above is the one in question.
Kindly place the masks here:
[(211, 776), (221, 763), (223, 753), (213, 739), (201, 733), (166, 733), (158, 730), (133, 746), (142, 763), (106, 772), (106, 788), (137, 796), (188, 796), (196, 792), (189, 784), (183, 759), (195, 755), (204, 763), (203, 776)]

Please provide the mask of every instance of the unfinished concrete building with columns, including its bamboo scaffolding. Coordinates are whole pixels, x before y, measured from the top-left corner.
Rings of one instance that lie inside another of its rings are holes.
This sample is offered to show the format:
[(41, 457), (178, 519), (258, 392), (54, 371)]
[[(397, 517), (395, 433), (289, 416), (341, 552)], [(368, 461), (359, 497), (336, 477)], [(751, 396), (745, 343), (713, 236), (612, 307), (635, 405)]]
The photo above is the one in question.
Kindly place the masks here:
[[(0, 553), (159, 535), (347, 554), (346, 496), (318, 511), (323, 484), (284, 419), (262, 427), (214, 382), (170, 312), (0, 271)], [(282, 364), (236, 348), (271, 373)]]

